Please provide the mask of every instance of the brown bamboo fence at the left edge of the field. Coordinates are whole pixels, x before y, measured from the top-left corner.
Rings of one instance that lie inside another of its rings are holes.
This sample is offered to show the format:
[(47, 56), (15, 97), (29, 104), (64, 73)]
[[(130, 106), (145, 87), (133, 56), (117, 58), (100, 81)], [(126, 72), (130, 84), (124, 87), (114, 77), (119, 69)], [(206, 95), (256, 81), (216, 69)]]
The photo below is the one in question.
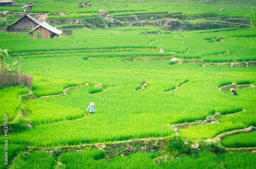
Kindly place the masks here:
[(0, 88), (24, 85), (32, 90), (33, 76), (29, 74), (18, 74), (0, 72)]

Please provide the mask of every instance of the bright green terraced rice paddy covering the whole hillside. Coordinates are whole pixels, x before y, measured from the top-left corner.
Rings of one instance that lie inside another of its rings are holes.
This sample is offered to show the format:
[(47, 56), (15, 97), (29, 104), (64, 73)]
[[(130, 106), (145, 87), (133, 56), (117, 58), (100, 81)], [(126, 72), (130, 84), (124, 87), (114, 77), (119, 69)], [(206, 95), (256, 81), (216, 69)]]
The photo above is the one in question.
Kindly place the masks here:
[[(8, 115), (10, 129), (8, 151), (1, 131), (0, 154), (8, 152), (9, 164), (2, 161), (0, 168), (255, 168), (256, 131), (215, 140), (219, 134), (256, 126), (256, 67), (251, 66), (256, 61), (255, 29), (198, 30), (193, 21), (199, 15), (206, 19), (202, 23), (212, 17), (244, 17), (253, 1), (93, 1), (92, 7), (84, 8), (77, 8), (72, 0), (35, 4), (33, 12), (51, 12), (48, 19), (92, 19), (99, 17), (98, 10), (124, 22), (130, 22), (131, 15), (150, 20), (150, 14), (159, 18), (166, 13), (185, 14), (189, 21), (182, 22), (193, 31), (152, 25), (89, 31), (83, 29), (84, 22), (61, 23), (59, 27), (76, 29), (55, 39), (0, 33), (1, 48), (12, 51), (5, 58), (7, 64), (22, 57), (23, 70), (33, 75), (31, 91), (23, 85), (0, 89), (0, 128), (4, 129)], [(70, 13), (56, 15), (65, 11)], [(169, 61), (173, 57), (178, 62)], [(245, 65), (220, 64), (229, 62)], [(138, 92), (142, 79), (147, 87)], [(99, 83), (103, 88), (94, 87)], [(237, 96), (219, 90), (232, 83), (252, 86), (235, 89)], [(22, 99), (28, 93), (36, 99)], [(97, 112), (87, 116), (90, 102)], [(214, 123), (207, 122), (209, 118)], [(24, 131), (23, 123), (28, 121), (33, 129)], [(198, 125), (186, 126), (190, 122)], [(186, 127), (174, 127), (181, 123)], [(168, 151), (166, 140), (174, 134), (182, 138), (181, 147), (189, 145), (189, 153)], [(205, 142), (212, 147), (219, 144), (223, 151), (205, 151)], [(195, 143), (199, 147), (191, 146)]]

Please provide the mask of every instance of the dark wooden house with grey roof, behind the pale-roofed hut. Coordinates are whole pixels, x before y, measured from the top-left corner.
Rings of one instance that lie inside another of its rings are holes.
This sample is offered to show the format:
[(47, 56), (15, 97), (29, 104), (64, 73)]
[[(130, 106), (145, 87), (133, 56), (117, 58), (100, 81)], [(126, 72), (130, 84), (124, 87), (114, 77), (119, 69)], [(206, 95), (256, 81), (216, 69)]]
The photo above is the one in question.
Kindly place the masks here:
[(25, 14), (23, 17), (14, 22), (8, 31), (29, 31), (30, 28), (36, 27), (41, 23), (42, 22), (40, 20), (37, 20), (33, 16)]

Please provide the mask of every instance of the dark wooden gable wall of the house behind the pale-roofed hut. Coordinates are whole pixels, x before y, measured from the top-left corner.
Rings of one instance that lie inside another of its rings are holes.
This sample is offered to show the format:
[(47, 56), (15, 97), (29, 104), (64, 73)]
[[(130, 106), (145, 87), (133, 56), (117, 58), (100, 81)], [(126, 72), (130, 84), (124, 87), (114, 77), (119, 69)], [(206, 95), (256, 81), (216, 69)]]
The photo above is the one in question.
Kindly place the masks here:
[(36, 26), (38, 26), (37, 23), (33, 22), (27, 16), (24, 16), (22, 19), (12, 25), (10, 31), (29, 31), (31, 27)]

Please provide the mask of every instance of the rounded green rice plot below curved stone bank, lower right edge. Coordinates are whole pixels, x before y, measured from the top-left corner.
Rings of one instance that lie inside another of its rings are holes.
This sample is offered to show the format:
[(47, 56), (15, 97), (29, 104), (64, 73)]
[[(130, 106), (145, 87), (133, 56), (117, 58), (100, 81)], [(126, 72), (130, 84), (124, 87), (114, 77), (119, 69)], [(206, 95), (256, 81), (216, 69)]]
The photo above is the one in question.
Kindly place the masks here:
[(256, 132), (230, 135), (223, 138), (222, 145), (227, 148), (249, 148), (256, 147)]

